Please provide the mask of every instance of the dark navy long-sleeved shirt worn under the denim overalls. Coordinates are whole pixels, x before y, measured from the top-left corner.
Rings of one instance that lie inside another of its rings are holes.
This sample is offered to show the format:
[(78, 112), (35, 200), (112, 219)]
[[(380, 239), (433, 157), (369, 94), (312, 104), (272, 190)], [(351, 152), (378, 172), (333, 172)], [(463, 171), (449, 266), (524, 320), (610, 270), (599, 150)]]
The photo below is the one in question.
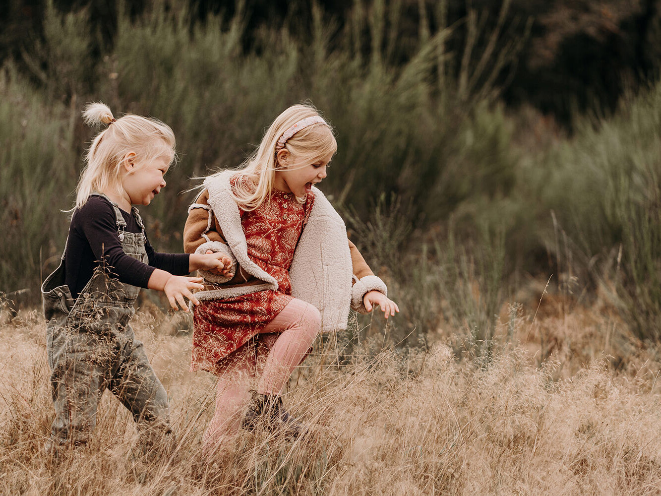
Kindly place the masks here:
[[(142, 229), (136, 218), (129, 212), (120, 211), (126, 221), (124, 230), (140, 233)], [(90, 196), (85, 205), (73, 212), (69, 226), (65, 282), (71, 290), (71, 296), (77, 298), (102, 258), (106, 267), (112, 267), (110, 272), (120, 281), (141, 288), (147, 287), (155, 269), (167, 270), (177, 276), (188, 274), (188, 253), (157, 253), (149, 239), (145, 243), (145, 250), (148, 265), (126, 255), (118, 236), (112, 205), (102, 196)]]

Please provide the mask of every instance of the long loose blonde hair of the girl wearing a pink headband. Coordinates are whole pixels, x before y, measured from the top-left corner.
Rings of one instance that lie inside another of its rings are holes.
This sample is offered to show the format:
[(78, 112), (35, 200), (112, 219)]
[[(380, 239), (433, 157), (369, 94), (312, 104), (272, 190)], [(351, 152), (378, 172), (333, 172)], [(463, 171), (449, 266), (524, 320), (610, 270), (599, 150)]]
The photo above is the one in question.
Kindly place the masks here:
[(305, 167), (327, 157), (337, 150), (331, 124), (312, 124), (301, 129), (287, 140), (284, 148), (290, 153), (286, 167), (278, 165), (276, 144), (286, 130), (299, 120), (319, 116), (319, 111), (309, 104), (292, 105), (272, 122), (257, 149), (241, 165), (239, 172), (249, 181), (237, 181), (232, 191), (234, 200), (243, 210), (254, 210), (268, 198), (274, 184), (276, 171)]

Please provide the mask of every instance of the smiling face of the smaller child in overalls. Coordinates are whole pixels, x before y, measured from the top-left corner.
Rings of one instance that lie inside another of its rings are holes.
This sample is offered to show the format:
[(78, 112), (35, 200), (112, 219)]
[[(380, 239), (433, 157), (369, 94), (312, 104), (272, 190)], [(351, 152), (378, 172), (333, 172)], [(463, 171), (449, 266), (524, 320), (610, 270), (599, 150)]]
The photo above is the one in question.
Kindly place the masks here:
[(149, 205), (154, 196), (165, 188), (165, 173), (172, 161), (171, 155), (161, 155), (155, 159), (137, 163), (135, 154), (126, 159), (126, 174), (122, 176), (122, 187), (126, 200), (132, 205)]

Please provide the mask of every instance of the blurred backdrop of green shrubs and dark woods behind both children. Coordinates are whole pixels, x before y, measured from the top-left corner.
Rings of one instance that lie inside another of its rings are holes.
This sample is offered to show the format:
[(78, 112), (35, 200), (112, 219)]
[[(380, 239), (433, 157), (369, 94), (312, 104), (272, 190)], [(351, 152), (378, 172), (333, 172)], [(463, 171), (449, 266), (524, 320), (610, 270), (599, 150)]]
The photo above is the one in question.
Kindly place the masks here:
[(549, 276), (656, 340), (660, 5), (6, 1), (0, 303), (38, 302), (59, 259), (86, 102), (175, 130), (180, 163), (142, 212), (157, 249), (180, 251), (191, 178), (236, 167), (311, 101), (337, 130), (324, 190), (409, 309), (402, 340), (452, 322), (488, 343)]

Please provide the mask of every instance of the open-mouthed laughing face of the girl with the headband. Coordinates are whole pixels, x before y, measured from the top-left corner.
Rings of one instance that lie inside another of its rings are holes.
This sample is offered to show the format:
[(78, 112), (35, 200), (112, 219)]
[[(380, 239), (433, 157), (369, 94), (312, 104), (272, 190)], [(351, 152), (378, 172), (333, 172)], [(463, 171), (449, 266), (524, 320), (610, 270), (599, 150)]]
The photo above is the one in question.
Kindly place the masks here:
[[(329, 167), (334, 151), (325, 157), (319, 157), (312, 163), (295, 163), (295, 159), (286, 149), (278, 152), (278, 161), (282, 170), (277, 170), (274, 177), (274, 187), (286, 193), (293, 193), (303, 198), (313, 185), (321, 183), (326, 177), (326, 169)], [(291, 165), (288, 165), (293, 162)], [(285, 164), (285, 165), (282, 165)]]

